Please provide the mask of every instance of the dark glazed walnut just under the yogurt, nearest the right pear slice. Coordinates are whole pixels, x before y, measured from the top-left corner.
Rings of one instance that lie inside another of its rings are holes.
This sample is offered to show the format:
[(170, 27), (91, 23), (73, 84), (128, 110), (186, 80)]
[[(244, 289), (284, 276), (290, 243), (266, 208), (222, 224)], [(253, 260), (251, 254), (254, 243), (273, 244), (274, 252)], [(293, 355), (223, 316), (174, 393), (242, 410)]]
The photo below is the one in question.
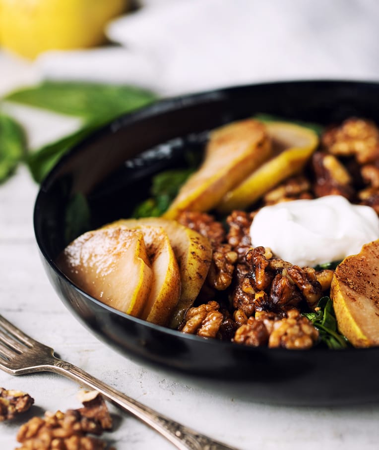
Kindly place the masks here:
[(315, 269), (312, 269), (312, 267), (302, 269), (299, 266), (292, 266), (286, 271), (307, 300), (308, 306), (314, 308), (322, 295), (322, 287), (317, 281)]

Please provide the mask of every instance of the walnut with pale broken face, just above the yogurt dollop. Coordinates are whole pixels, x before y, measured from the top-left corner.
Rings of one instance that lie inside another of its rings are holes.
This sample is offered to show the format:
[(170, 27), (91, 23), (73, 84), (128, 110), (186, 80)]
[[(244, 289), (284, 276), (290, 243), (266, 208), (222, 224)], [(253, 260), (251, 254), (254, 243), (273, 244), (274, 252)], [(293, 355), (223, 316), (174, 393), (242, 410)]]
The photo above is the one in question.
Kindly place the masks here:
[(312, 158), (316, 176), (314, 191), (317, 197), (342, 195), (348, 200), (354, 197), (351, 177), (346, 168), (333, 155), (316, 152)]

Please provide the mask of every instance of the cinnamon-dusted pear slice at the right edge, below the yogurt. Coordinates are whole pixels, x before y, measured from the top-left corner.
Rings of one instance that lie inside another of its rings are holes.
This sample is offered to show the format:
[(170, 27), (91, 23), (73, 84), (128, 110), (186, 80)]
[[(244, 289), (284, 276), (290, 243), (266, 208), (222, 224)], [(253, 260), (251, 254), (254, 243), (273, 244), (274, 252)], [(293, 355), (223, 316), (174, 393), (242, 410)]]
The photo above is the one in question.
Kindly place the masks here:
[(355, 347), (379, 345), (379, 239), (337, 266), (330, 297), (338, 329)]

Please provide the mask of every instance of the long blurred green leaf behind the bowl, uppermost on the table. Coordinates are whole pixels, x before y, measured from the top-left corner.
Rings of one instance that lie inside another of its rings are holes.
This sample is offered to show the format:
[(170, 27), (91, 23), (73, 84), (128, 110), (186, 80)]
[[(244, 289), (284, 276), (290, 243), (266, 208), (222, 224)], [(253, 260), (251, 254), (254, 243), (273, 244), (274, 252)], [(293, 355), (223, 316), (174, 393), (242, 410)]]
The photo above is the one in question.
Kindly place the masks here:
[(155, 99), (153, 93), (132, 86), (65, 81), (45, 81), (5, 97), (7, 101), (76, 115), (89, 121), (111, 120)]

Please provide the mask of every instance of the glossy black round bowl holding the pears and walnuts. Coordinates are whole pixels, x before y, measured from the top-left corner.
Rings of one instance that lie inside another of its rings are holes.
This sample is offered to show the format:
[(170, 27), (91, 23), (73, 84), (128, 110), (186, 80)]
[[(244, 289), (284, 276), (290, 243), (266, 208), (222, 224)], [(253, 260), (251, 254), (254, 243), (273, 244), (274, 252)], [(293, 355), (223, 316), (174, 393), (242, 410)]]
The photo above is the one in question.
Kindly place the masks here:
[(297, 81), (163, 100), (127, 114), (73, 148), (38, 194), (34, 226), (44, 267), (68, 309), (98, 338), (145, 364), (247, 383), (259, 401), (346, 404), (379, 400), (379, 348), (332, 351), (252, 348), (184, 335), (127, 316), (75, 287), (54, 261), (71, 239), (126, 218), (151, 176), (201, 152), (208, 130), (257, 112), (321, 124), (361, 116), (379, 123), (379, 84)]

